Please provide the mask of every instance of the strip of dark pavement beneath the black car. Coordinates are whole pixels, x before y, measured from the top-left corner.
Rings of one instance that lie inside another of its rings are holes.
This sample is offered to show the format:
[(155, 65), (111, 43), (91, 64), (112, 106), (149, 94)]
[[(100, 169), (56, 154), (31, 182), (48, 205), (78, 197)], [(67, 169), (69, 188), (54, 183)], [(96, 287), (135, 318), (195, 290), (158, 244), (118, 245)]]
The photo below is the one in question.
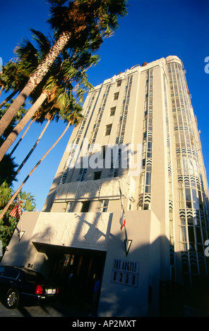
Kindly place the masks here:
[(76, 306), (67, 306), (56, 302), (44, 306), (19, 306), (16, 309), (7, 309), (0, 302), (1, 317), (85, 317), (88, 311)]

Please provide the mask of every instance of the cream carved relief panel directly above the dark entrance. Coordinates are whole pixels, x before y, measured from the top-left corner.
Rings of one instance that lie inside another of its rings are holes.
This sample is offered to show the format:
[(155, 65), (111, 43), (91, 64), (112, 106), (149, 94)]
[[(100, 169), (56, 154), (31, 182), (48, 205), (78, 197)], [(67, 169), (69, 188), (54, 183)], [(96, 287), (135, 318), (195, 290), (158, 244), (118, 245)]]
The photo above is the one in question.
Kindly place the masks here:
[(107, 250), (112, 213), (40, 213), (32, 242)]

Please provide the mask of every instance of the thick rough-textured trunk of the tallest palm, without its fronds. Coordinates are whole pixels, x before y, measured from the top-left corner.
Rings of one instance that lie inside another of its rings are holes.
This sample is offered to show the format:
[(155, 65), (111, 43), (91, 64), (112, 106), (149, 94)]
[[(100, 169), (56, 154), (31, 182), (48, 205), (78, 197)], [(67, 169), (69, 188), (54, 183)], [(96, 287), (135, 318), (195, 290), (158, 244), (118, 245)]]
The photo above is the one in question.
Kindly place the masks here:
[(49, 68), (52, 66), (57, 56), (64, 49), (64, 46), (68, 43), (71, 37), (70, 32), (62, 32), (59, 39), (55, 42), (54, 46), (49, 50), (49, 53), (44, 58), (44, 61), (37, 66), (35, 73), (30, 76), (28, 83), (25, 85), (23, 90), (18, 94), (13, 104), (8, 108), (6, 113), (2, 116), (0, 120), (0, 136), (3, 134), (6, 127), (11, 123), (13, 116), (16, 115), (20, 106), (25, 102), (30, 93), (35, 89), (35, 87), (42, 81), (44, 76), (47, 74)]

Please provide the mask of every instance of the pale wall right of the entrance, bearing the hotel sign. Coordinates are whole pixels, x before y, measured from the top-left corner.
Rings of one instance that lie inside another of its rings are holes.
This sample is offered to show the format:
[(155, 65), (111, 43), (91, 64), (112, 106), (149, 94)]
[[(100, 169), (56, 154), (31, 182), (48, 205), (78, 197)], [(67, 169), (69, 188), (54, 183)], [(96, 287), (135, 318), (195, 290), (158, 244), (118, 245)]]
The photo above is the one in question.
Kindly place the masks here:
[[(119, 227), (120, 213), (114, 213), (107, 248), (99, 316), (148, 316), (158, 313), (160, 280), (160, 222), (152, 211), (127, 211), (126, 230), (133, 242), (126, 256), (124, 229)], [(137, 287), (112, 282), (114, 259), (139, 263)], [(148, 304), (148, 287), (153, 304)], [(155, 304), (157, 301), (157, 304)]]

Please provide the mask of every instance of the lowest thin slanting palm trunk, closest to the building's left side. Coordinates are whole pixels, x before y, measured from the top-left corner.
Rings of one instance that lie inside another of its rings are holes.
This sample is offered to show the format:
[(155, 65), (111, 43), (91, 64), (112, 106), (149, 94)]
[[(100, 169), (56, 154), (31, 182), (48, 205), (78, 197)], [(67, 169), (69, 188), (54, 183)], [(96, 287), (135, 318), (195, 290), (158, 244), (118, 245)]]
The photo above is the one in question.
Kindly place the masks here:
[(13, 203), (14, 199), (16, 199), (16, 196), (18, 195), (18, 193), (20, 192), (20, 190), (22, 189), (23, 185), (25, 184), (25, 182), (27, 182), (27, 180), (30, 178), (30, 176), (32, 175), (32, 173), (35, 171), (35, 169), (38, 167), (38, 165), (40, 165), (40, 163), (42, 163), (42, 161), (44, 160), (44, 158), (46, 158), (46, 156), (50, 153), (50, 151), (52, 151), (52, 149), (54, 149), (54, 146), (56, 146), (56, 144), (58, 144), (59, 140), (64, 136), (64, 134), (66, 133), (66, 131), (68, 130), (68, 127), (71, 125), (71, 122), (68, 123), (68, 125), (66, 126), (64, 132), (62, 132), (62, 134), (59, 136), (59, 138), (56, 140), (56, 142), (54, 142), (54, 144), (48, 149), (48, 151), (44, 154), (44, 156), (42, 156), (42, 158), (40, 158), (40, 161), (38, 161), (35, 165), (35, 167), (32, 168), (32, 170), (30, 171), (30, 173), (28, 174), (27, 177), (25, 177), (25, 180), (23, 180), (22, 184), (20, 185), (20, 187), (16, 190), (16, 192), (13, 194), (13, 196), (11, 197), (11, 199), (8, 201), (8, 203), (6, 204), (6, 206), (4, 207), (3, 211), (1, 211), (0, 214), (0, 220), (1, 218), (4, 217), (4, 214), (6, 213), (6, 211), (8, 210), (9, 206), (11, 206), (11, 204)]

